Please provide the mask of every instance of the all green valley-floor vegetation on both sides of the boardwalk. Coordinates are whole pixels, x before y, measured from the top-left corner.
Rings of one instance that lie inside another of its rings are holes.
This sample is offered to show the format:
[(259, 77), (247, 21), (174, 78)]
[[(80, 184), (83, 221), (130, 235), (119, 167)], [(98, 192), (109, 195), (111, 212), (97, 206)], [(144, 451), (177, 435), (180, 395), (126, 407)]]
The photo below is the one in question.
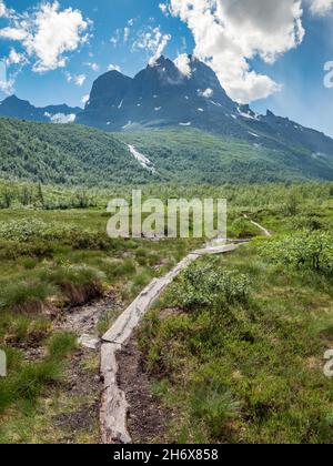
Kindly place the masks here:
[[(78, 377), (95, 379), (98, 355), (82, 356), (78, 332), (61, 322), (111, 293), (102, 335), (153, 277), (201, 245), (110, 240), (107, 203), (130, 195), (131, 186), (0, 182), (1, 443), (99, 442), (94, 418), (69, 427), (98, 409), (98, 386), (69, 389)], [(332, 183), (147, 184), (143, 196), (226, 197), (230, 237), (260, 235), (244, 213), (274, 233), (189, 269), (142, 326), (152, 389), (178, 413), (170, 440), (331, 442), (322, 355), (332, 347)]]

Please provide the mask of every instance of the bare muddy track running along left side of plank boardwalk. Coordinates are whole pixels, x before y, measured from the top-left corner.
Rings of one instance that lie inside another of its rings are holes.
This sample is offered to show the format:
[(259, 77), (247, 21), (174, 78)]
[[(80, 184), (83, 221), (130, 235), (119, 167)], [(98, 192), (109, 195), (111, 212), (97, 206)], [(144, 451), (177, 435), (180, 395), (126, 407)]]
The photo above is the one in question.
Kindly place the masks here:
[(59, 409), (52, 424), (65, 444), (101, 443), (100, 399), (103, 381), (100, 375), (101, 340), (98, 323), (110, 312), (120, 313), (122, 303), (113, 292), (102, 298), (68, 310), (54, 323), (56, 332), (78, 335), (78, 350), (68, 362), (65, 379), (59, 391)]

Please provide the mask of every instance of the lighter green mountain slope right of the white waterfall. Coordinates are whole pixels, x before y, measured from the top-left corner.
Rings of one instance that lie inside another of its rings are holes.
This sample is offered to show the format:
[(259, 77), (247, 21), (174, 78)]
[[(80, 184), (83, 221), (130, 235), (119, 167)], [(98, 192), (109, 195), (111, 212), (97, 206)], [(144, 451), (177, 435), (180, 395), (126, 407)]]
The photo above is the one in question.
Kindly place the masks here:
[(333, 158), (315, 159), (302, 148), (250, 143), (199, 130), (114, 134), (133, 144), (158, 169), (162, 181), (193, 183), (265, 183), (332, 180)]

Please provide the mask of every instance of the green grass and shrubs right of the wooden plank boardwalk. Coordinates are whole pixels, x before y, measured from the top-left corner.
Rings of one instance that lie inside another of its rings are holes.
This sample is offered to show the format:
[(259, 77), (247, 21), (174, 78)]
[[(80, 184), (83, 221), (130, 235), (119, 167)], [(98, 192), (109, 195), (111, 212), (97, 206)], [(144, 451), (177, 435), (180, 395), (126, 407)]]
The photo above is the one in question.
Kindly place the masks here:
[(272, 239), (200, 260), (139, 330), (170, 443), (333, 442), (333, 192), (280, 190), (248, 206)]

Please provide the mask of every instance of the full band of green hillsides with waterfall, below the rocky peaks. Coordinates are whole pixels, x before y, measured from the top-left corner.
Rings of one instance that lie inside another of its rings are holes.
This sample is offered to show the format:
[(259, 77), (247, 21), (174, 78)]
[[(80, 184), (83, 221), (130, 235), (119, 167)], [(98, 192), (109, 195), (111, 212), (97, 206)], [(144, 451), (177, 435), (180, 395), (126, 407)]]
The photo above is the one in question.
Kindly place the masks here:
[(0, 179), (48, 184), (181, 185), (333, 180), (333, 159), (192, 128), (108, 133), (0, 118)]

